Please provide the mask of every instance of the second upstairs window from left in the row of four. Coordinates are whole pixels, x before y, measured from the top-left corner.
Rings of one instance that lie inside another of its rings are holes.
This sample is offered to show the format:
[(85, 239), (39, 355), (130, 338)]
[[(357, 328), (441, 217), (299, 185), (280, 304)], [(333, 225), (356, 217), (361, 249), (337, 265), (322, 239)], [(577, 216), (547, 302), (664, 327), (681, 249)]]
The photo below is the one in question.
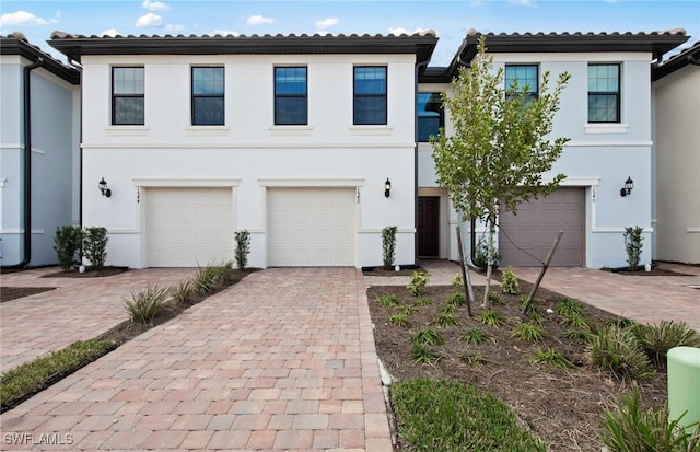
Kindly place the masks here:
[(223, 68), (192, 68), (192, 126), (223, 126)]

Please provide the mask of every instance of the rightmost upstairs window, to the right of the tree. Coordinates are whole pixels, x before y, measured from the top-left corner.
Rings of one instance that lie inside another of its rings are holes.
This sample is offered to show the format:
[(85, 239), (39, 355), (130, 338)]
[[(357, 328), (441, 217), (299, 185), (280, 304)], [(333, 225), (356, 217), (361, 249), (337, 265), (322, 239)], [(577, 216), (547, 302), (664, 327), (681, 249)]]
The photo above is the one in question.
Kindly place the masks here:
[(588, 65), (588, 123), (620, 121), (620, 65)]

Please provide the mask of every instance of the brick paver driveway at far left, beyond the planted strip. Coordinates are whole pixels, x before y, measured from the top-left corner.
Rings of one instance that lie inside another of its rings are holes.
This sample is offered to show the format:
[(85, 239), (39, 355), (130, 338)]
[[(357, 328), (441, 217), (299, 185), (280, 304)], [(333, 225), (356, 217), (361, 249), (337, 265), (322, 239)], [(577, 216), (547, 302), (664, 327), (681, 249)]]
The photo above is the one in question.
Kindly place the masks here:
[(0, 304), (0, 371), (101, 335), (128, 318), (124, 298), (131, 291), (189, 279), (195, 270), (149, 268), (103, 278), (43, 277), (57, 271), (60, 268), (49, 267), (0, 275), (2, 288), (57, 288)]

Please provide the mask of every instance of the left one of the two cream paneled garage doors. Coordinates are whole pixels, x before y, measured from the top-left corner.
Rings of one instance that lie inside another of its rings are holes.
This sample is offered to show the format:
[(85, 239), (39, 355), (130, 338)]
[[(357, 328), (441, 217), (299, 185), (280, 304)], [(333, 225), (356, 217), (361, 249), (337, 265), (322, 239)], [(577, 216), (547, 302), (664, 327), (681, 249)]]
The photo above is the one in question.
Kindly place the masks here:
[(147, 262), (195, 267), (233, 257), (231, 188), (149, 188)]

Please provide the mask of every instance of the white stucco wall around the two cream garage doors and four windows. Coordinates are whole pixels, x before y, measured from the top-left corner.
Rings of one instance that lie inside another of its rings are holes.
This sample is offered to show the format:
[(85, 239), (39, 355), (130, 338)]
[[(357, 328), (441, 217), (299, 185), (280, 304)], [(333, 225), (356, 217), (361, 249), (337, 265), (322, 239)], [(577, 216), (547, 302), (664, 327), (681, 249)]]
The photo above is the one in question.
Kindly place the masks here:
[[(266, 181), (289, 179), (295, 186), (360, 181), (353, 182), (359, 188), (357, 266), (382, 264), (386, 225), (399, 230), (397, 263), (413, 264), (413, 62), (412, 55), (85, 56), (84, 224), (107, 228), (108, 264), (142, 267), (139, 181), (208, 185), (236, 179), (235, 228), (253, 233), (249, 265), (266, 267)], [(110, 126), (112, 65), (144, 67), (144, 126)], [(190, 67), (196, 65), (225, 68), (225, 126), (190, 126)], [(273, 126), (277, 65), (308, 68), (307, 126)], [(354, 65), (388, 67), (386, 126), (352, 125)], [(110, 198), (97, 190), (101, 177)], [(384, 197), (387, 177), (389, 198)]]

